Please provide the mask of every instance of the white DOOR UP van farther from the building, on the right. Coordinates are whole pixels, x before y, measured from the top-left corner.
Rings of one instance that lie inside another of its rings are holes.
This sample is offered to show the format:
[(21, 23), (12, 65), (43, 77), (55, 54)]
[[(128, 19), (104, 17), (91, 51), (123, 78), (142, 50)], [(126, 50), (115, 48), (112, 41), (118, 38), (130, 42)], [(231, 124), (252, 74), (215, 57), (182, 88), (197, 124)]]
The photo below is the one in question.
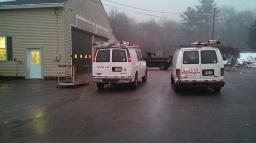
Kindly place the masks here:
[(175, 92), (181, 87), (210, 87), (219, 92), (224, 87), (224, 64), (218, 48), (219, 40), (198, 41), (175, 47), (172, 59), (171, 83)]

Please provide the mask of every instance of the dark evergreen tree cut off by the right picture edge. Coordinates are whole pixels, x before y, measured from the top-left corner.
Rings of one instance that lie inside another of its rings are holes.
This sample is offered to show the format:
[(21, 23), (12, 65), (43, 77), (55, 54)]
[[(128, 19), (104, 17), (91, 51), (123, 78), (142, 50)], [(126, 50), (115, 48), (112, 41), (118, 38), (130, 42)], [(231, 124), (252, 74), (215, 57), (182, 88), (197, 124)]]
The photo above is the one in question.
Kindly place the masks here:
[(256, 20), (254, 20), (253, 25), (248, 29), (248, 47), (256, 51)]

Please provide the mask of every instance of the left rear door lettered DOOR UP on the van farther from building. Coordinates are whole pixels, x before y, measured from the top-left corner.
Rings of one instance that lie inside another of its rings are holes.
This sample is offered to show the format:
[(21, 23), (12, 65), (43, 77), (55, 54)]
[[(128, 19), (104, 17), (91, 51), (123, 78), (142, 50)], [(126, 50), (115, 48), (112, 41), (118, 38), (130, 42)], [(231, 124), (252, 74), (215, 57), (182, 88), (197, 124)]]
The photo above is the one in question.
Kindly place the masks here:
[(201, 71), (199, 63), (198, 50), (183, 50), (183, 58), (181, 64), (181, 80), (198, 81), (200, 80)]

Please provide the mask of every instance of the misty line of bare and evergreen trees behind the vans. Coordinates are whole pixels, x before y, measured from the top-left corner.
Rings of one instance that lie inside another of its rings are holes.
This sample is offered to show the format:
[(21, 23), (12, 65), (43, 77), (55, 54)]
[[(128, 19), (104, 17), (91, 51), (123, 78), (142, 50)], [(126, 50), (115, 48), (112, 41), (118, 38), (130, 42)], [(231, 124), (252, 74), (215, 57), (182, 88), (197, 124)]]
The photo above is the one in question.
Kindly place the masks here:
[(201, 5), (188, 7), (180, 14), (181, 22), (167, 18), (137, 22), (113, 8), (108, 19), (117, 40), (140, 43), (143, 52), (154, 49), (173, 55), (175, 46), (212, 39), (212, 35), (213, 39), (220, 39), (226, 49), (256, 51), (256, 10), (237, 12), (232, 6), (219, 8), (214, 0), (199, 2)]

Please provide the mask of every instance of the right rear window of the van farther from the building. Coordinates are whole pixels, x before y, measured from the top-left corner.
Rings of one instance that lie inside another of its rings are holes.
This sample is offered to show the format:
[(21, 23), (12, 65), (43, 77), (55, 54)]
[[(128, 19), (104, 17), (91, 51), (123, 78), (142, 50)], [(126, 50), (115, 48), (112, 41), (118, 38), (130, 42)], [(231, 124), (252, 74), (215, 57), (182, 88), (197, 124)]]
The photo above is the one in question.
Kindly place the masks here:
[(201, 63), (202, 64), (215, 64), (217, 63), (217, 55), (215, 50), (202, 50), (201, 51)]

